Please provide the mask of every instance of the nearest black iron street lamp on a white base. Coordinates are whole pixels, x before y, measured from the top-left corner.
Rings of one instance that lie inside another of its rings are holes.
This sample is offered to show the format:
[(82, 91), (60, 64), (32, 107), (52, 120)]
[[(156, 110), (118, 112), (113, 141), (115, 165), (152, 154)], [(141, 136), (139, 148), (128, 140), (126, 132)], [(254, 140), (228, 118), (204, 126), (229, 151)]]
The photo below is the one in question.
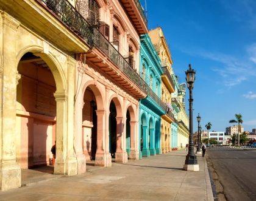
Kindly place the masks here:
[(192, 139), (192, 133), (193, 133), (193, 96), (192, 96), (192, 90), (194, 87), (194, 80), (195, 80), (195, 74), (196, 72), (194, 69), (191, 69), (191, 64), (188, 65), (189, 69), (186, 70), (186, 81), (188, 84), (188, 89), (190, 90), (190, 141), (189, 141), (189, 148), (188, 148), (188, 154), (186, 156), (185, 164), (183, 166), (183, 169), (187, 171), (199, 171), (199, 165), (197, 163), (196, 155), (194, 155), (194, 143)]

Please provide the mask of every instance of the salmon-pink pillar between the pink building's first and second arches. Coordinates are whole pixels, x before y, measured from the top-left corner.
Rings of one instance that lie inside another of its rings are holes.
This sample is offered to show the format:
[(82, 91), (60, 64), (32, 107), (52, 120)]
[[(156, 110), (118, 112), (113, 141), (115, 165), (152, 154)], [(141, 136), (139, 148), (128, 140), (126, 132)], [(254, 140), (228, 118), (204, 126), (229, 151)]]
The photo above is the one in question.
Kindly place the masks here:
[(97, 113), (97, 151), (95, 157), (96, 166), (111, 166), (111, 155), (106, 151), (103, 146), (105, 141), (105, 111), (96, 111)]

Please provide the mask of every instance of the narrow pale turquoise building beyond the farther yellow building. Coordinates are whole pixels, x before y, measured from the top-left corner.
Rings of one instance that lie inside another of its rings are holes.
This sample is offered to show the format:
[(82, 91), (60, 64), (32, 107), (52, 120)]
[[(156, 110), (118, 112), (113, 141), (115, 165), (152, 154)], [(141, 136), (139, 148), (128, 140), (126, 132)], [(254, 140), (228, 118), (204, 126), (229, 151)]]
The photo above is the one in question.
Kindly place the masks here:
[(177, 150), (178, 148), (178, 113), (180, 112), (180, 108), (178, 106), (178, 92), (179, 92), (179, 83), (176, 75), (172, 74), (172, 80), (174, 81), (175, 91), (171, 95), (171, 103), (172, 103), (172, 113), (174, 114), (174, 118), (176, 121), (171, 123), (171, 149)]

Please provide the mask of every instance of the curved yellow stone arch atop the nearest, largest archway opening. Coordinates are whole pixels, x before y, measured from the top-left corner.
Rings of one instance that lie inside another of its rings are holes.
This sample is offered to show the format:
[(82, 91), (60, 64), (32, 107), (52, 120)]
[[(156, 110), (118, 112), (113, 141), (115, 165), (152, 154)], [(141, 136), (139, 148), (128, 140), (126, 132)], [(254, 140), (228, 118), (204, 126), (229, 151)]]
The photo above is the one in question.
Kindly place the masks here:
[(65, 93), (66, 92), (66, 79), (62, 67), (59, 61), (55, 58), (55, 55), (49, 52), (48, 54), (43, 52), (43, 47), (41, 46), (26, 46), (21, 49), (16, 55), (16, 66), (21, 60), (21, 57), (27, 52), (33, 53), (35, 56), (40, 56), (46, 64), (48, 64), (49, 69), (51, 69), (52, 75), (54, 76), (56, 84), (55, 93)]

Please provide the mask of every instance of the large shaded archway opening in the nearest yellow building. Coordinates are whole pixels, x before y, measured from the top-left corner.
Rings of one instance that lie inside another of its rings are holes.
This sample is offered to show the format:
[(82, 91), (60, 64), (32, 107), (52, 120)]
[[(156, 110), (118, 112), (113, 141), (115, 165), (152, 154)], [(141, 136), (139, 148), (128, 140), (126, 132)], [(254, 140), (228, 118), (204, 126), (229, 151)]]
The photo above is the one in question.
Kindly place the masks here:
[(32, 52), (21, 57), (18, 73), (16, 132), (20, 135), (16, 135), (17, 160), (21, 169), (51, 165), (49, 169), (53, 172), (55, 157), (51, 148), (56, 140), (57, 117), (54, 75), (46, 61)]

